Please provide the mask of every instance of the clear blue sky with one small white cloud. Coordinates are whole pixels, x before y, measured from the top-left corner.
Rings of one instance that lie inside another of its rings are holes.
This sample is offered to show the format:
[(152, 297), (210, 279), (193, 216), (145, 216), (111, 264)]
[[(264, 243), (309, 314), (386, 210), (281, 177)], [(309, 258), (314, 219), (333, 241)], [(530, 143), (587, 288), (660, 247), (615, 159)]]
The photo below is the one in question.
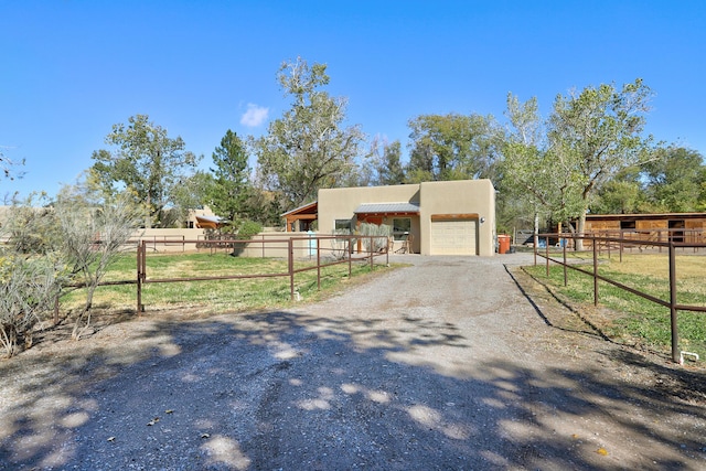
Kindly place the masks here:
[(147, 114), (204, 165), (229, 128), (288, 108), (284, 61), (327, 63), (349, 124), (408, 142), (424, 114), (548, 114), (571, 88), (643, 78), (648, 131), (706, 156), (706, 2), (0, 0), (0, 196), (54, 194), (114, 124)]

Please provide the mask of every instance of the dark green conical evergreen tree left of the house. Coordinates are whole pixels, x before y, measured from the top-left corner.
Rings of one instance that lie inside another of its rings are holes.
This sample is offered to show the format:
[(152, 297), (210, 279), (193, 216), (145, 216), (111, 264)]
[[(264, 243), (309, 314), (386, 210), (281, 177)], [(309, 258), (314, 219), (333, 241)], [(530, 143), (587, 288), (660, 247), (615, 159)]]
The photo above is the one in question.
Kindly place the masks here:
[(208, 206), (237, 226), (238, 220), (247, 213), (252, 183), (247, 149), (231, 129), (213, 152), (213, 163), (214, 181), (208, 192)]

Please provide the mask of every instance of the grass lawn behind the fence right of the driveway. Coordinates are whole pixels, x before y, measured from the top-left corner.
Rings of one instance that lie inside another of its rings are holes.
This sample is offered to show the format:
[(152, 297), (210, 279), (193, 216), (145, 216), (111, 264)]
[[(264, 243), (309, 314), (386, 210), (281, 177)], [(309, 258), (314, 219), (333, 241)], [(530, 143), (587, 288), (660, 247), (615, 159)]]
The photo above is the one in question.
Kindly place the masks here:
[[(561, 255), (554, 255), (560, 259)], [(585, 261), (584, 268), (592, 270), (592, 254), (571, 254), (575, 261)], [(564, 286), (564, 269), (552, 264), (546, 278), (544, 259), (525, 270), (537, 280), (548, 283), (550, 289), (578, 306), (581, 311), (591, 312), (593, 304), (593, 280), (591, 277), (568, 270), (568, 285)], [(664, 301), (670, 300), (668, 257), (662, 254), (623, 254), (600, 257), (599, 274), (635, 290), (646, 292)], [(676, 255), (677, 303), (706, 306), (706, 256), (695, 254)], [(608, 315), (590, 319), (610, 339), (644, 346), (671, 355), (672, 338), (670, 309), (644, 298), (632, 295), (610, 283), (599, 281), (599, 303), (608, 308)], [(588, 314), (590, 317), (590, 314)], [(680, 350), (694, 352), (706, 361), (706, 313), (677, 311)]]

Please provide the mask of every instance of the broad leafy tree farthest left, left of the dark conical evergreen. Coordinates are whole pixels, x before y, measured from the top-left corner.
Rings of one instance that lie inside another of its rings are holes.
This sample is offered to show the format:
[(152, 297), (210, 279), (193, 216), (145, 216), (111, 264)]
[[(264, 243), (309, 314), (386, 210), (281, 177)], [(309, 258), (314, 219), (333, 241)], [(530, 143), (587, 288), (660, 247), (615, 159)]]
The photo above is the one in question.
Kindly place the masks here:
[(184, 150), (181, 137), (168, 137), (167, 129), (147, 115), (132, 116), (127, 125), (114, 125), (106, 143), (115, 150), (95, 151), (93, 170), (113, 191), (121, 183), (137, 195), (147, 207), (146, 227), (160, 225), (171, 189), (188, 170), (195, 169), (199, 158)]

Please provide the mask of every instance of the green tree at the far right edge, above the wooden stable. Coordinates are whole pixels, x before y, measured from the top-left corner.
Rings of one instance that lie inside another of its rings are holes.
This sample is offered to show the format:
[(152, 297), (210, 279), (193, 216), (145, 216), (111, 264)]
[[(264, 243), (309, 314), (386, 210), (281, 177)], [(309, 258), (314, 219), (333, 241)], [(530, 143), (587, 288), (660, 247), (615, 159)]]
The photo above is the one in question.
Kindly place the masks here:
[(643, 165), (645, 192), (654, 211), (703, 211), (706, 168), (695, 150), (668, 146), (654, 153), (655, 159)]

